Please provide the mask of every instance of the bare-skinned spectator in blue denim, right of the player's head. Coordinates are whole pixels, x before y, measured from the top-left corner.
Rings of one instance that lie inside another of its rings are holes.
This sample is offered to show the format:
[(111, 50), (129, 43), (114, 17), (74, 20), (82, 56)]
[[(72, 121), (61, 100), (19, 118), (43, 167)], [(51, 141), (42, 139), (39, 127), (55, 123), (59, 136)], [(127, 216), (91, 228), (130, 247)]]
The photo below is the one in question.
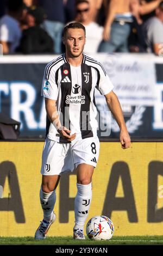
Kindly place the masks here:
[(99, 52), (128, 52), (130, 23), (133, 21), (129, 4), (130, 0), (110, 0)]

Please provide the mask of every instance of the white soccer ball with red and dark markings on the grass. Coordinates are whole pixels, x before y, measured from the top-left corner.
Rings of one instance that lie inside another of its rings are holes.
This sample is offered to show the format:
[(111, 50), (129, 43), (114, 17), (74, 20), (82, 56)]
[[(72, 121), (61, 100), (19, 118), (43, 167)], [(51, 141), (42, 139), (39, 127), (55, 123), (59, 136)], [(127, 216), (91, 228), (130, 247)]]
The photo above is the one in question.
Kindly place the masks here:
[(109, 240), (114, 233), (114, 225), (106, 216), (95, 216), (86, 224), (86, 234), (91, 240)]

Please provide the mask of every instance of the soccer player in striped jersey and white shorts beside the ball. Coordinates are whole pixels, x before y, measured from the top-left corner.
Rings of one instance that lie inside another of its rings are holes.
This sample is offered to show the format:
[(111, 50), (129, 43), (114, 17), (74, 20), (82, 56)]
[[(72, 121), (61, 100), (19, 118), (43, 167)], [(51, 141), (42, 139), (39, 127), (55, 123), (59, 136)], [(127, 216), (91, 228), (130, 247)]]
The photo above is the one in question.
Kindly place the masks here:
[(42, 185), (40, 202), (43, 220), (35, 239), (45, 239), (52, 223), (60, 175), (77, 169), (77, 196), (74, 202), (73, 237), (85, 239), (84, 223), (92, 199), (92, 174), (99, 154), (97, 109), (94, 90), (97, 88), (120, 126), (122, 148), (130, 147), (120, 102), (112, 91), (112, 83), (103, 66), (83, 54), (85, 27), (73, 22), (64, 28), (66, 53), (46, 66), (42, 83), (47, 112), (46, 140), (42, 153)]

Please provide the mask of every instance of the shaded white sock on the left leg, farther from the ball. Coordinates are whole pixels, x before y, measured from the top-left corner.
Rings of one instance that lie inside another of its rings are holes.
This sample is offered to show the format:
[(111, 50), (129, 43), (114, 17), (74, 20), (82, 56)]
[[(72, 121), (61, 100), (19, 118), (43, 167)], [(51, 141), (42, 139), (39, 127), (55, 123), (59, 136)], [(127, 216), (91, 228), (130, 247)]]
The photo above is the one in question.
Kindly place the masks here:
[(40, 188), (40, 202), (43, 210), (43, 220), (51, 222), (53, 218), (53, 209), (56, 201), (55, 190), (50, 193), (45, 193)]

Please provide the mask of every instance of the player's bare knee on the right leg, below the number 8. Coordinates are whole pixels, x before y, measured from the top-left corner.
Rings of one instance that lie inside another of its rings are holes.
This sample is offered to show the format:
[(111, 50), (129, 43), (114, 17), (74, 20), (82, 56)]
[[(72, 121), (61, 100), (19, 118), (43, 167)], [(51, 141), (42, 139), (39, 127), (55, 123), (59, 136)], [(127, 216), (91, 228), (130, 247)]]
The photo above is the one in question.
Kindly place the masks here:
[(77, 166), (77, 183), (87, 185), (92, 181), (94, 166), (86, 163), (80, 163)]

